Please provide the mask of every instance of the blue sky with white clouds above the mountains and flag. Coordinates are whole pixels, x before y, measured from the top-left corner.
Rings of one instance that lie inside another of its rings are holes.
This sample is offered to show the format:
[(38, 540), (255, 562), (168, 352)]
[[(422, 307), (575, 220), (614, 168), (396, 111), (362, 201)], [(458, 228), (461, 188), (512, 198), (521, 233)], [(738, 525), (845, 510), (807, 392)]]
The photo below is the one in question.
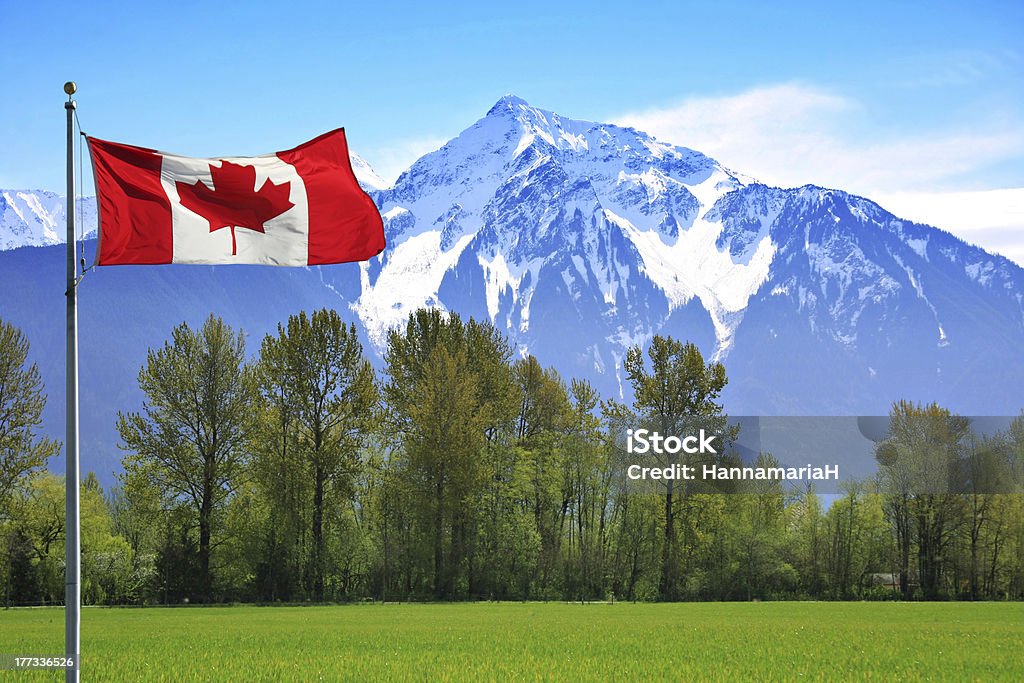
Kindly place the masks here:
[(62, 188), (68, 79), (99, 137), (249, 155), (344, 125), (389, 180), (513, 92), (1024, 262), (1024, 3), (212, 4), (6, 7), (0, 187)]

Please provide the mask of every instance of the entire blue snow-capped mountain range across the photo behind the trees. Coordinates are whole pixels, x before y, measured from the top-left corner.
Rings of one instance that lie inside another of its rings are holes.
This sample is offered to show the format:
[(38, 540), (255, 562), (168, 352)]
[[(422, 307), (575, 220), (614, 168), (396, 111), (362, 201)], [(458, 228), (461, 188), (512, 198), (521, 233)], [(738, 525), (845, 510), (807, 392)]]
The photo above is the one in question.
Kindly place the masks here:
[[(358, 323), (380, 366), (389, 329), (440, 306), (494, 322), (518, 353), (627, 400), (626, 350), (671, 335), (725, 364), (736, 416), (878, 415), (900, 398), (964, 415), (1024, 407), (1024, 269), (869, 200), (769, 187), (698, 152), (514, 96), (391, 187), (354, 155), (352, 165), (384, 216), (388, 246), (370, 262), (86, 276), (83, 443), (110, 461), (91, 467), (117, 468), (117, 412), (141, 401), (146, 350), (210, 311), (244, 329), (254, 351), (288, 314), (333, 306)], [(29, 336), (56, 394), (63, 249), (11, 247), (60, 241), (63, 205), (0, 196), (0, 318)], [(57, 438), (58, 399), (44, 415)]]

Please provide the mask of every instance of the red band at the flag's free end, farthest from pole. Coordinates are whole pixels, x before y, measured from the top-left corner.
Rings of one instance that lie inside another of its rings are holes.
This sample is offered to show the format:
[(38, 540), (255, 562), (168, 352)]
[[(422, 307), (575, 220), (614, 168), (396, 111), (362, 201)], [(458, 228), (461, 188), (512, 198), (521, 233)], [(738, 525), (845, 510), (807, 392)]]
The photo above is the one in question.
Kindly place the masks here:
[(278, 158), (295, 167), (306, 188), (309, 265), (365, 261), (384, 250), (384, 223), (355, 179), (343, 128)]

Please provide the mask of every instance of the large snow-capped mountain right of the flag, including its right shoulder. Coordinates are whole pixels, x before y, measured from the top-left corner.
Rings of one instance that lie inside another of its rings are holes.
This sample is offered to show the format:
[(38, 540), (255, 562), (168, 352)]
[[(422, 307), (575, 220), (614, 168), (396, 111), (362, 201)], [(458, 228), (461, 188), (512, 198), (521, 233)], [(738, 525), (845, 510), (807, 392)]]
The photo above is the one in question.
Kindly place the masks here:
[(439, 305), (614, 392), (626, 349), (672, 334), (726, 362), (734, 412), (1024, 402), (974, 375), (1021, 373), (1024, 271), (859, 197), (509, 95), (376, 198), (389, 248), (354, 310), (378, 346)]

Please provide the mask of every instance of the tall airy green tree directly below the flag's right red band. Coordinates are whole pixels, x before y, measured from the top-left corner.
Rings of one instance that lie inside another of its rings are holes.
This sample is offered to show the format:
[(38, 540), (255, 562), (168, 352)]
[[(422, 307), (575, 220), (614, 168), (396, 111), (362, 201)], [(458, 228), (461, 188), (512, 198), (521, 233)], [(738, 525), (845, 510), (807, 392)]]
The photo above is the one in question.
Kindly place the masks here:
[[(353, 497), (358, 450), (378, 421), (374, 371), (355, 327), (322, 309), (292, 315), (276, 337), (264, 338), (257, 375), (266, 419), (254, 440), (255, 469), (272, 522), (259, 570), (262, 592), (294, 596), (295, 582), (280, 579), (299, 565), (306, 592), (323, 600), (332, 506)], [(296, 540), (307, 527), (311, 543), (303, 552)]]

